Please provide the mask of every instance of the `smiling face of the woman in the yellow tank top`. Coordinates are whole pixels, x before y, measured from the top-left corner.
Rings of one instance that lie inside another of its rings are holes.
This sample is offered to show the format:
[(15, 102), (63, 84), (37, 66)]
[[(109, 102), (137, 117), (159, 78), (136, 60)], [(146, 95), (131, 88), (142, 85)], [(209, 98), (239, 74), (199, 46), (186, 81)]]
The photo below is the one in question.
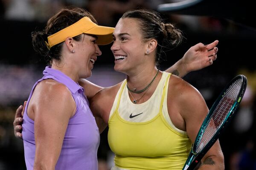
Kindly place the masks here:
[(132, 74), (144, 69), (147, 62), (145, 58), (147, 46), (138, 21), (132, 18), (120, 19), (113, 32), (111, 47), (115, 57), (115, 71)]

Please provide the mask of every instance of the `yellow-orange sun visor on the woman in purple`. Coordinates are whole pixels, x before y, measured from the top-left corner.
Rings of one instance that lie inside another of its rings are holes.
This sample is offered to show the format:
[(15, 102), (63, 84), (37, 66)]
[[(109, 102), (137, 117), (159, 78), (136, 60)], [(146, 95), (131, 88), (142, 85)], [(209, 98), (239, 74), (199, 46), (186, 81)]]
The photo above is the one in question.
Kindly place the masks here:
[(53, 45), (64, 42), (67, 37), (76, 37), (83, 33), (96, 35), (98, 37), (96, 41), (98, 45), (107, 45), (113, 41), (112, 34), (114, 29), (113, 27), (98, 26), (89, 17), (83, 17), (71, 26), (47, 37), (47, 46), (51, 48)]

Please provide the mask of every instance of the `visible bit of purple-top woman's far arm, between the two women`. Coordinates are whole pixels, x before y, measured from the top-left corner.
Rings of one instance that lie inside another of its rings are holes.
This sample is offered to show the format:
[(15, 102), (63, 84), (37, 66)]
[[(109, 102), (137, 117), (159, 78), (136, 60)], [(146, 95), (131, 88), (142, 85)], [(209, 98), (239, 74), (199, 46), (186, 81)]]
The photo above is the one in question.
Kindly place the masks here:
[(79, 79), (79, 85), (84, 88), (84, 94), (88, 100), (90, 100), (98, 91), (103, 88), (99, 85), (89, 82), (86, 79)]

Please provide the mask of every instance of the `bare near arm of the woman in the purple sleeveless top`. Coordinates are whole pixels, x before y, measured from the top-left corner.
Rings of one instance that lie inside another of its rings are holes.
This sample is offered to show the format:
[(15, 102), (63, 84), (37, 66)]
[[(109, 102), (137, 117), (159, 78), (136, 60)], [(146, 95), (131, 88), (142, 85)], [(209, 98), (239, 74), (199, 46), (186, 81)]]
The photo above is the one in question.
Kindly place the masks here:
[(31, 105), (35, 120), (34, 167), (54, 169), (76, 104), (67, 87), (60, 83), (41, 85), (34, 93)]

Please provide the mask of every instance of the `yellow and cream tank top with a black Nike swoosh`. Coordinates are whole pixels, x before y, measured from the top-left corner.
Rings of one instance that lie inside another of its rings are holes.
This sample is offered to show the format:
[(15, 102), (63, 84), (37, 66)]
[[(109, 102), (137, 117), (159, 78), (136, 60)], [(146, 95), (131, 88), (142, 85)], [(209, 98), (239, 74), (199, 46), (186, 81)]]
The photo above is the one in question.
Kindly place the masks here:
[(192, 144), (168, 114), (170, 75), (163, 72), (150, 99), (138, 105), (129, 98), (126, 80), (122, 82), (108, 122), (108, 143), (116, 154), (113, 169), (182, 170)]

